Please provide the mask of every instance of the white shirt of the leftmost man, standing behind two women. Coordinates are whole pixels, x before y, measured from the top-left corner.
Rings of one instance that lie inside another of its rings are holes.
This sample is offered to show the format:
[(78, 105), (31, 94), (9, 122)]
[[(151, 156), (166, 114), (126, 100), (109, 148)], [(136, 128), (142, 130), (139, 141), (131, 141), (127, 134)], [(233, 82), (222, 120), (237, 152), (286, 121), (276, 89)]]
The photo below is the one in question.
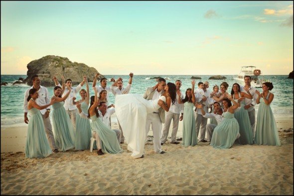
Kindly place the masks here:
[[(29, 90), (32, 89), (33, 87), (30, 87), (28, 89), (26, 89), (25, 93), (24, 93), (24, 99), (23, 99), (23, 112), (28, 112), (28, 109), (27, 109), (27, 97), (29, 95)], [(51, 99), (49, 98), (49, 92), (48, 92), (48, 89), (44, 86), (40, 86), (40, 89), (38, 91), (39, 93), (39, 97), (36, 99), (36, 103), (39, 105), (39, 106), (43, 106), (43, 105), (47, 105), (51, 102)], [(47, 109), (50, 109), (50, 106), (47, 107), (46, 109), (42, 109), (40, 110), (41, 114), (45, 114), (46, 110)]]

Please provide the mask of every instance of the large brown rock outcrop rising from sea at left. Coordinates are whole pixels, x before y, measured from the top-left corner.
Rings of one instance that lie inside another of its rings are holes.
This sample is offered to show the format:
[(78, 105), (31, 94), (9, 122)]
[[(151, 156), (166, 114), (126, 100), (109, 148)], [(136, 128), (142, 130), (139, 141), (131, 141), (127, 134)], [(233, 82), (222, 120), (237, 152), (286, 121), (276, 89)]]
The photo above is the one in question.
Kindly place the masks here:
[[(83, 80), (84, 75), (87, 76), (88, 82), (93, 82), (95, 75), (98, 72), (94, 67), (89, 67), (84, 63), (71, 62), (66, 57), (54, 55), (47, 55), (31, 61), (27, 64), (27, 69), (27, 77), (23, 82), (30, 86), (32, 85), (31, 77), (33, 75), (39, 76), (42, 86), (55, 86), (52, 81), (53, 76), (56, 76), (61, 84), (61, 75), (64, 76), (65, 80), (70, 78), (74, 86)], [(104, 76), (100, 74), (97, 80), (100, 80), (103, 77)]]

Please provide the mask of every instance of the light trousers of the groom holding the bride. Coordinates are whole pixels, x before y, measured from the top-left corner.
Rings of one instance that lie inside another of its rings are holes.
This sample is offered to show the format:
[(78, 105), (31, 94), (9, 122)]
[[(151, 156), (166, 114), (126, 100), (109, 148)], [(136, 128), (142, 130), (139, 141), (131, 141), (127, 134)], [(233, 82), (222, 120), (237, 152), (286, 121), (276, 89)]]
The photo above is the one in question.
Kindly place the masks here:
[(161, 138), (162, 123), (161, 123), (161, 120), (159, 117), (159, 113), (147, 114), (146, 141), (147, 141), (148, 132), (150, 130), (150, 125), (151, 125), (151, 129), (153, 131), (153, 150), (155, 153), (161, 153), (160, 138)]

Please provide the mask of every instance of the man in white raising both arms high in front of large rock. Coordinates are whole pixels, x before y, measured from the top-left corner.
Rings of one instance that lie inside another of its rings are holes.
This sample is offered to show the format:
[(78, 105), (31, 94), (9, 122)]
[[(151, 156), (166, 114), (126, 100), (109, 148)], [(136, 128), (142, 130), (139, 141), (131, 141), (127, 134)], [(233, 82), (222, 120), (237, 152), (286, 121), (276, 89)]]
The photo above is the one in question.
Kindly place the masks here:
[[(76, 130), (76, 118), (77, 118), (78, 110), (77, 110), (77, 106), (73, 104), (72, 98), (76, 97), (77, 93), (80, 92), (80, 90), (82, 89), (82, 86), (84, 85), (86, 79), (87, 79), (87, 77), (84, 76), (83, 81), (77, 87), (72, 87), (72, 80), (70, 78), (68, 78), (65, 81), (65, 90), (64, 90), (64, 93), (62, 94), (62, 97), (64, 95), (66, 95), (66, 93), (68, 92), (68, 89), (71, 89), (71, 90), (70, 90), (70, 93), (69, 93), (68, 97), (64, 101), (63, 107), (65, 108), (66, 112), (69, 115), (69, 118), (70, 118), (70, 120), (72, 122), (72, 125), (74, 126), (74, 130)], [(57, 80), (57, 78), (55, 76), (52, 78), (52, 80), (54, 80), (55, 86), (62, 87), (59, 84), (59, 82), (58, 82), (58, 80)]]

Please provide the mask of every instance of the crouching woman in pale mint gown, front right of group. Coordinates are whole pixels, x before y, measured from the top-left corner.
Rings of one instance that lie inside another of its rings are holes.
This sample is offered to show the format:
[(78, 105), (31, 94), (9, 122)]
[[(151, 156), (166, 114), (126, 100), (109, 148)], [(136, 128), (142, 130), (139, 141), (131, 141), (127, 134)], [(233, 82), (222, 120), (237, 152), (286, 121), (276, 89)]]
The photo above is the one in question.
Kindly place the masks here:
[[(228, 94), (223, 99), (223, 120), (213, 131), (210, 146), (217, 149), (231, 148), (236, 139), (240, 137), (239, 124), (234, 118), (234, 111), (239, 107), (238, 103)], [(234, 103), (232, 106), (231, 101)]]

